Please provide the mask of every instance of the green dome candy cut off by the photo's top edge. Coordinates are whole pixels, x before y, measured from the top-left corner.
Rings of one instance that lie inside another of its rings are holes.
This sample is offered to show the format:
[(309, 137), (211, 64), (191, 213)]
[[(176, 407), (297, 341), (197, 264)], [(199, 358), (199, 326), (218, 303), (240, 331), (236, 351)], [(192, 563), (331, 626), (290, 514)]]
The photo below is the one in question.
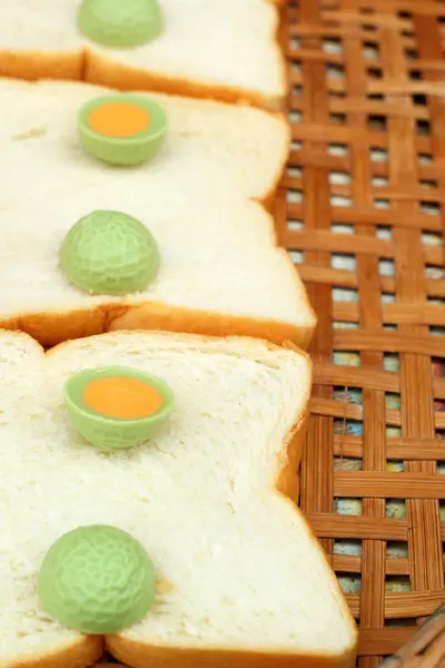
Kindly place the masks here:
[(105, 47), (137, 47), (155, 39), (162, 18), (156, 0), (83, 0), (80, 32)]

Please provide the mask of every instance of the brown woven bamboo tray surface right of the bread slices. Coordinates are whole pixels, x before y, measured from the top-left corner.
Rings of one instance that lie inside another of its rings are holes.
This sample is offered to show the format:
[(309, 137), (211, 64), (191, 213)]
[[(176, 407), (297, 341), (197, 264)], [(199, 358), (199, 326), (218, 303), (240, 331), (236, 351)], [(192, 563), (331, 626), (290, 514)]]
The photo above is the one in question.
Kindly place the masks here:
[(290, 2), (281, 43), (277, 225), (319, 318), (301, 505), (370, 668), (445, 599), (445, 2)]

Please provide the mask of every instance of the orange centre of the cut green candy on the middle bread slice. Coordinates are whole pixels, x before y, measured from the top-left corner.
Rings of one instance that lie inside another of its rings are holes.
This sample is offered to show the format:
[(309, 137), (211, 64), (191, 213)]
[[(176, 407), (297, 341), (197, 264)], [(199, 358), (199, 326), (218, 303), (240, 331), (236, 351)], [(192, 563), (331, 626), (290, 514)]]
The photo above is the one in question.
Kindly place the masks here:
[(125, 139), (145, 130), (150, 125), (150, 116), (132, 102), (107, 102), (90, 112), (88, 124), (98, 135)]

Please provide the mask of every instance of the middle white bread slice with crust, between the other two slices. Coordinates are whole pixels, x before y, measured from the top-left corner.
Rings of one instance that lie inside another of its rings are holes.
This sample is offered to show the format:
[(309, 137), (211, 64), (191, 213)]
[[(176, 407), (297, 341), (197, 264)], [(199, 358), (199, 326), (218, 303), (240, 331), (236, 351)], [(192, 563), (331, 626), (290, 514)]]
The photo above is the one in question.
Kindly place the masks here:
[[(0, 326), (44, 345), (112, 328), (246, 334), (306, 347), (315, 316), (274, 222), (257, 202), (288, 147), (279, 118), (251, 107), (156, 96), (168, 136), (156, 158), (112, 168), (80, 146), (78, 107), (105, 89), (0, 80)], [(142, 293), (90, 296), (59, 266), (70, 227), (96, 209), (155, 235), (160, 271)]]

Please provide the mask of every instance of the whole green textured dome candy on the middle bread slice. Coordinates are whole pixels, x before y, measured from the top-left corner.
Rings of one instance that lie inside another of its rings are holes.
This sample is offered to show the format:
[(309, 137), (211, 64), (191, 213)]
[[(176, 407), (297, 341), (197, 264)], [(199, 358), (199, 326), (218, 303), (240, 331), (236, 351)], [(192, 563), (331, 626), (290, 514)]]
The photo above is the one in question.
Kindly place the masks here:
[(159, 268), (151, 233), (120, 212), (97, 210), (70, 229), (60, 248), (67, 278), (90, 294), (126, 295), (145, 289)]

